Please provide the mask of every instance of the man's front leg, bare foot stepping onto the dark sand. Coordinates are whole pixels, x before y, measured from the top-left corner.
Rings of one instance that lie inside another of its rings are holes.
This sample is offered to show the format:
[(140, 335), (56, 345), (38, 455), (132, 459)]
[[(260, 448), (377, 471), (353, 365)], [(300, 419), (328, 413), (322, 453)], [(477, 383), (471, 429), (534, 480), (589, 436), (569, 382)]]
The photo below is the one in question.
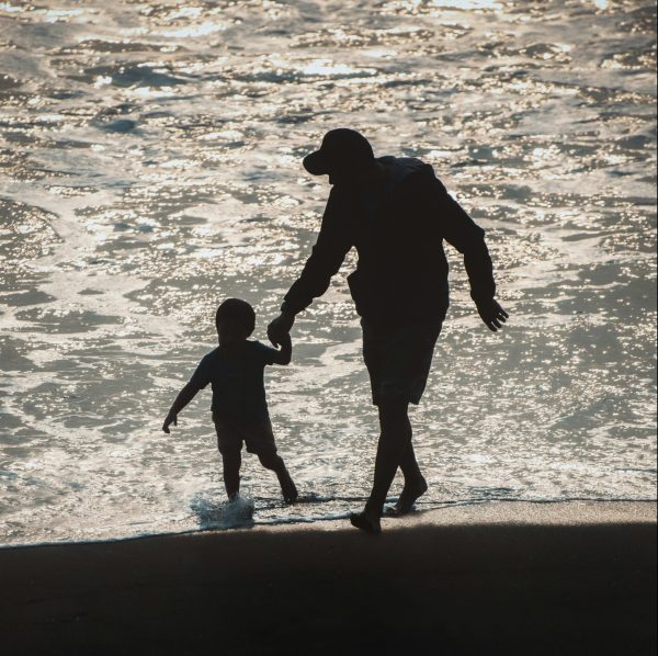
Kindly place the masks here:
[[(375, 480), (363, 512), (352, 518), (352, 523), (371, 533), (378, 533), (379, 517), (395, 473), (411, 444), (411, 423), (407, 401), (389, 400), (379, 404), (382, 432), (375, 459)], [(416, 457), (413, 457), (416, 461)], [(407, 463), (408, 463), (407, 456)], [(417, 465), (418, 466), (418, 465)]]

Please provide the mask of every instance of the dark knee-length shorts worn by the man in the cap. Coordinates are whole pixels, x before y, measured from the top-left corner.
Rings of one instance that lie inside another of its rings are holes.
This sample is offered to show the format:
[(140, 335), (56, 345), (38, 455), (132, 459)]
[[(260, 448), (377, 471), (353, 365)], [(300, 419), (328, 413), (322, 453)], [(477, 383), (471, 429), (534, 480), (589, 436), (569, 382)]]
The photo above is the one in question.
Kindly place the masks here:
[(415, 324), (361, 319), (363, 360), (371, 378), (373, 404), (400, 400), (418, 405), (428, 382), (443, 317)]

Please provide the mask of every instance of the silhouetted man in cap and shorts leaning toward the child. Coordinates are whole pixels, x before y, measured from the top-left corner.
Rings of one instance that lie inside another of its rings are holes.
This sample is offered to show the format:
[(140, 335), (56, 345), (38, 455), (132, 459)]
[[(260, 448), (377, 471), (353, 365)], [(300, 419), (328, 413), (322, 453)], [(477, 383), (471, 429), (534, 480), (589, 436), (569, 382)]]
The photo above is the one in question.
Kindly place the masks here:
[(378, 533), (398, 466), (405, 484), (395, 512), (411, 510), (427, 490), (411, 444), (408, 406), (420, 401), (449, 306), (443, 239), (463, 253), (470, 296), (489, 329), (501, 328), (508, 314), (494, 298), (485, 231), (447, 194), (431, 166), (413, 158), (375, 158), (363, 135), (340, 128), (325, 135), (304, 167), (313, 176), (328, 174), (332, 189), (317, 242), (268, 336), (275, 346), (284, 340), (295, 315), (327, 291), (355, 247), (359, 264), (348, 283), (361, 316), (381, 434), (372, 493), (351, 521)]

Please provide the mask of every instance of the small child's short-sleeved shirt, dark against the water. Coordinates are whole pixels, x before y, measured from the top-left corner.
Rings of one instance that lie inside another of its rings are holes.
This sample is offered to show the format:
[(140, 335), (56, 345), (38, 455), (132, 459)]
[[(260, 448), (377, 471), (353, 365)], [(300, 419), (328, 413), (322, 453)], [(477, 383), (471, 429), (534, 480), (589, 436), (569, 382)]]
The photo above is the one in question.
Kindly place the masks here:
[(248, 340), (238, 349), (217, 347), (200, 362), (190, 384), (203, 389), (213, 386), (213, 416), (232, 421), (263, 421), (269, 418), (263, 371), (279, 351)]

